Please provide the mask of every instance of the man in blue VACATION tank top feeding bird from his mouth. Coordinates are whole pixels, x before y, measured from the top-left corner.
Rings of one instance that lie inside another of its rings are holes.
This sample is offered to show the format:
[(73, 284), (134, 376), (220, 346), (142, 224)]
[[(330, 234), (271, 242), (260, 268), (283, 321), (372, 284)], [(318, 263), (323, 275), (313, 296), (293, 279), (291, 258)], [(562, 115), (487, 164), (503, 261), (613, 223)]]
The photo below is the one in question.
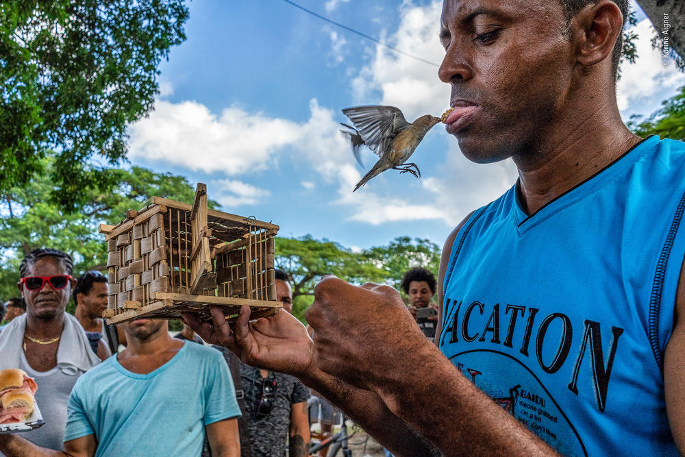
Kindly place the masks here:
[(198, 331), (397, 455), (685, 453), (685, 147), (621, 121), (626, 16), (626, 0), (444, 1), (447, 132), (519, 180), (445, 243), (436, 346), (395, 291), (334, 277), (313, 343), (284, 313)]

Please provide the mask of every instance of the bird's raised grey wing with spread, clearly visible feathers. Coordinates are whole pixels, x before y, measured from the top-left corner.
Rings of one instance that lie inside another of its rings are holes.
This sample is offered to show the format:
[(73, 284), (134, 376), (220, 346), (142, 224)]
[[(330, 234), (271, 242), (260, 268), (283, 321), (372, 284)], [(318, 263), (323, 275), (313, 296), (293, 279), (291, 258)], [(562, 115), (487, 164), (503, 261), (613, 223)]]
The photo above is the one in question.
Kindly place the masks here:
[(354, 106), (345, 108), (343, 114), (349, 117), (364, 144), (377, 156), (390, 151), (390, 141), (409, 125), (404, 114), (394, 106)]

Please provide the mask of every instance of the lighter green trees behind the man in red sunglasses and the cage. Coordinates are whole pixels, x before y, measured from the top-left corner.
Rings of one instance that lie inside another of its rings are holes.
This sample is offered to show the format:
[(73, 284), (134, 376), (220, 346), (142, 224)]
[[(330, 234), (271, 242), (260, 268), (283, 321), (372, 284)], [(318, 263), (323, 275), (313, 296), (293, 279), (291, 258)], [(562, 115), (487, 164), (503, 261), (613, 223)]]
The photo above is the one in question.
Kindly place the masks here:
[[(41, 159), (40, 166), (48, 173), (36, 175), (27, 186), (10, 188), (0, 201), (0, 298), (16, 295), (19, 263), (32, 249), (53, 247), (68, 252), (77, 273), (100, 267), (107, 258), (104, 237), (97, 230), (100, 223), (119, 223), (126, 210), (145, 207), (153, 196), (192, 203), (195, 195), (185, 177), (133, 166), (110, 169), (117, 183), (113, 189), (88, 188), (80, 212), (62, 212), (49, 199), (55, 161), (51, 155)], [(219, 205), (210, 200), (208, 206)]]

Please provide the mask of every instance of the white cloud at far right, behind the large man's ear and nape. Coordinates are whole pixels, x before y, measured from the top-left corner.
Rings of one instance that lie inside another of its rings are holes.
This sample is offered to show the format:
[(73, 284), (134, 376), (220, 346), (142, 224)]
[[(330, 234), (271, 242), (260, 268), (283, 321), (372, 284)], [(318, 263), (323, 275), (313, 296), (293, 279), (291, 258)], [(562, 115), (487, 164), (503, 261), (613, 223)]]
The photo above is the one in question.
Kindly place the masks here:
[[(621, 79), (616, 86), (621, 111), (636, 111), (636, 105), (640, 102), (685, 84), (685, 75), (675, 69), (675, 62), (671, 61), (665, 69), (662, 67), (660, 51), (651, 47), (654, 32), (649, 19), (643, 19), (631, 30), (638, 36), (635, 42), (638, 58), (634, 64), (623, 62), (621, 65)], [(657, 97), (653, 105), (659, 106), (660, 101), (660, 97)]]

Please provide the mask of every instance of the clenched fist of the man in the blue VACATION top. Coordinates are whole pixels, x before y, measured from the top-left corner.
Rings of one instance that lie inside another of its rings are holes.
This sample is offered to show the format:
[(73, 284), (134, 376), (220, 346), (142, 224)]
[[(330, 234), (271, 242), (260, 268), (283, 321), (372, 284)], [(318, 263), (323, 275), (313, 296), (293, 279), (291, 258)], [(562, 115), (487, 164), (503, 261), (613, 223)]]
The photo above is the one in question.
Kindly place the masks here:
[(369, 390), (394, 378), (407, 358), (429, 345), (390, 286), (358, 287), (324, 277), (314, 289), (306, 319), (314, 329), (319, 369)]

